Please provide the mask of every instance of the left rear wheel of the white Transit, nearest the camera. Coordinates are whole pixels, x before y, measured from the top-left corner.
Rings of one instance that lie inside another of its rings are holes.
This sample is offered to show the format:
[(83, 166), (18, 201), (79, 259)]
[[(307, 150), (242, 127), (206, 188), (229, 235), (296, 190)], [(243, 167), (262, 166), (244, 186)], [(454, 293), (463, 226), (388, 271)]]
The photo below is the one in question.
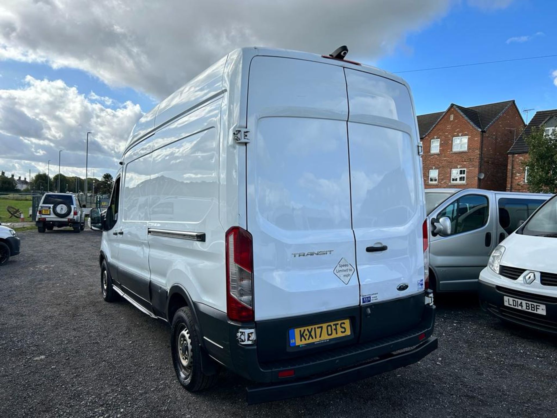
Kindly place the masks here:
[(201, 370), (201, 346), (192, 311), (180, 308), (174, 314), (170, 333), (172, 363), (180, 384), (190, 392), (213, 385), (217, 375), (207, 376)]

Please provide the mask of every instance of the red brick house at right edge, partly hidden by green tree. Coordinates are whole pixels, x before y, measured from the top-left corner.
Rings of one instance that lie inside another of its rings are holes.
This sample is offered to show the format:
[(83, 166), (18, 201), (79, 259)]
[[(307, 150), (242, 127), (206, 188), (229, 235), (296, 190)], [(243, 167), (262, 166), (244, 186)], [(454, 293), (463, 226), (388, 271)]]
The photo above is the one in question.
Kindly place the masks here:
[(545, 127), (547, 133), (557, 129), (557, 109), (536, 112), (524, 131), (512, 144), (508, 152), (507, 192), (528, 191), (528, 167), (524, 166), (524, 162), (528, 161), (528, 145), (524, 138), (530, 135), (532, 128), (542, 126)]

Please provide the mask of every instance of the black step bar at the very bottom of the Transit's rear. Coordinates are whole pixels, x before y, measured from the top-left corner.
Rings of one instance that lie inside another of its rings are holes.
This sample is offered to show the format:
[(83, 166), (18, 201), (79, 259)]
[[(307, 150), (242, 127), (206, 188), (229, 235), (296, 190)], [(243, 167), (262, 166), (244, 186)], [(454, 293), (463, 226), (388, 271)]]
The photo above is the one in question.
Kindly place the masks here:
[(345, 385), (346, 383), (379, 375), (380, 373), (389, 372), (396, 368), (416, 363), (436, 348), (437, 337), (429, 337), (426, 341), (419, 344), (419, 346), (408, 351), (392, 354), (388, 358), (377, 359), (330, 375), (291, 381), (278, 385), (248, 387), (247, 403), (252, 405), (260, 402), (278, 401), (291, 397), (313, 395), (317, 392), (329, 390), (337, 386)]

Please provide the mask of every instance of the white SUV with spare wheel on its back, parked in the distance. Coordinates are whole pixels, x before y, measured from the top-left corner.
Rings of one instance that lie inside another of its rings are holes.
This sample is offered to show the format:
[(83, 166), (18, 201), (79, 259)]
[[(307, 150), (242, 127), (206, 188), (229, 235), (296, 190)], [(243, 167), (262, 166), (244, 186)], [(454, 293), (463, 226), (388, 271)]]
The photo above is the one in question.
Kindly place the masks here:
[(85, 214), (80, 201), (71, 193), (45, 193), (38, 206), (35, 225), (38, 232), (65, 226), (79, 232), (85, 229)]

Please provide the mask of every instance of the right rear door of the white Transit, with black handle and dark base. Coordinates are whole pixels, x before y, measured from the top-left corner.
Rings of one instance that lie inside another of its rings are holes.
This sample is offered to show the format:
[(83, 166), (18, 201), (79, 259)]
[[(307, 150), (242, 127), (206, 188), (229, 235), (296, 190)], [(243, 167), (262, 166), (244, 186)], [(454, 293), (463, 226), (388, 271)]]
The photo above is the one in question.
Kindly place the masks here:
[(363, 342), (403, 332), (422, 318), (425, 213), (408, 89), (363, 71), (345, 74)]

